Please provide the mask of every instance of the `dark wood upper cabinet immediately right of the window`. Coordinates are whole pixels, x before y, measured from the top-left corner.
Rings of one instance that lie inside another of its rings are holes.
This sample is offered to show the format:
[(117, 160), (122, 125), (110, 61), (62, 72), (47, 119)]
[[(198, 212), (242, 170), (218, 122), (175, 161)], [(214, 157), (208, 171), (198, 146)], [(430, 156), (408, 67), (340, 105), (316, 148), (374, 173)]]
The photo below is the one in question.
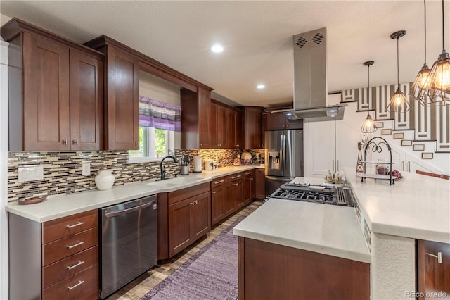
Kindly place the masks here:
[(211, 90), (181, 89), (181, 149), (212, 148), (210, 106)]

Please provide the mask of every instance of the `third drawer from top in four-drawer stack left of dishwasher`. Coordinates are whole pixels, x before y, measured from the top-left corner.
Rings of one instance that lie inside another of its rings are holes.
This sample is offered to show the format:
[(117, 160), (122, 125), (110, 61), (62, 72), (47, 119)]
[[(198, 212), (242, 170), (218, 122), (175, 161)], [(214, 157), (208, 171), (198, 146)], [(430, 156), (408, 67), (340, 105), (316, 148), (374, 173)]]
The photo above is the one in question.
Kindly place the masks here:
[(65, 280), (96, 263), (98, 263), (98, 246), (47, 265), (42, 268), (42, 288), (46, 289), (56, 282)]

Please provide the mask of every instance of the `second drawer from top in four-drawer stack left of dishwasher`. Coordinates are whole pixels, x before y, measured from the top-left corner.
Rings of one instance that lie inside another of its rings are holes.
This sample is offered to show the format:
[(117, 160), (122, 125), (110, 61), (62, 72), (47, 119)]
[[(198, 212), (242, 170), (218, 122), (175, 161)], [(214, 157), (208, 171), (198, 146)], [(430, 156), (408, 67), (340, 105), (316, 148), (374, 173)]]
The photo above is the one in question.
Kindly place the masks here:
[(98, 244), (98, 227), (45, 244), (43, 246), (42, 265), (49, 265), (96, 244)]

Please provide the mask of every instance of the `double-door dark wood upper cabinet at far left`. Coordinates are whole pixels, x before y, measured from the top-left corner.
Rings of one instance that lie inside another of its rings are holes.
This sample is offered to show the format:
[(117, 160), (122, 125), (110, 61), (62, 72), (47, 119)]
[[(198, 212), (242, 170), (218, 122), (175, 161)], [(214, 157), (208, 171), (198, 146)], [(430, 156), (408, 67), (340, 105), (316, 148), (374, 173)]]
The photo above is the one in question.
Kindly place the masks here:
[(101, 150), (103, 54), (17, 18), (1, 37), (10, 151)]

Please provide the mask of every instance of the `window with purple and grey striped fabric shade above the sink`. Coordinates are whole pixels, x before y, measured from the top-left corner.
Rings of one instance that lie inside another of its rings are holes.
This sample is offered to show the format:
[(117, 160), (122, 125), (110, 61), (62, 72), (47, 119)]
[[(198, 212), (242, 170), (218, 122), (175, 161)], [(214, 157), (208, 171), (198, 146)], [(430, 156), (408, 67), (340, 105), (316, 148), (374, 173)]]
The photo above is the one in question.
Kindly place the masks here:
[(129, 151), (129, 163), (159, 161), (174, 154), (175, 133), (181, 129), (181, 106), (139, 96), (139, 150)]

